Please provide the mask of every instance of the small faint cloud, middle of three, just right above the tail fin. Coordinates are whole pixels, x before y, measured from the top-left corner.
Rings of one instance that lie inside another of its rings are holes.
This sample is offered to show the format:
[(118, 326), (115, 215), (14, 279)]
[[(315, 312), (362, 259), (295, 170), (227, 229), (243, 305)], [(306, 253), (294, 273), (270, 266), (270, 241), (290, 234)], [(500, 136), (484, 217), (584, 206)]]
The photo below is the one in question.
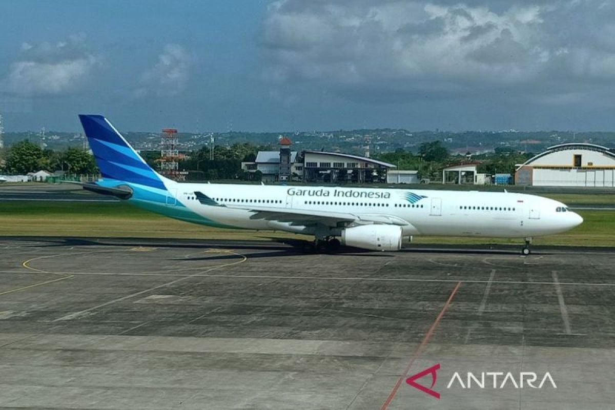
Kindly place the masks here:
[(141, 76), (138, 97), (146, 95), (178, 95), (186, 89), (192, 57), (181, 45), (167, 44), (157, 63)]

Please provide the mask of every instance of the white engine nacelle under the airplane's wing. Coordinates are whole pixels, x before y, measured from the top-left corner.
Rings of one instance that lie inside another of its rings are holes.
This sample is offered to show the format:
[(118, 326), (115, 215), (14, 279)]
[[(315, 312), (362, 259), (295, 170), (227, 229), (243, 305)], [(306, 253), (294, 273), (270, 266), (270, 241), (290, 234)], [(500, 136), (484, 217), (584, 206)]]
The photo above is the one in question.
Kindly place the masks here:
[(354, 226), (343, 229), (342, 242), (371, 251), (399, 251), (402, 248), (402, 227), (376, 224)]

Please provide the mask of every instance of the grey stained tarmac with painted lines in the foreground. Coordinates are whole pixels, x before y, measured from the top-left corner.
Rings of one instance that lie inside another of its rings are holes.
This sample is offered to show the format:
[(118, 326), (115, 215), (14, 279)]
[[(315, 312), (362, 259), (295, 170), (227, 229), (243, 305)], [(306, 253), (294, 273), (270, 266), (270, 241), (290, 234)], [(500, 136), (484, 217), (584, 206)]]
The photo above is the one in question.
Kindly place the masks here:
[(614, 257), (4, 237), (0, 408), (613, 408)]

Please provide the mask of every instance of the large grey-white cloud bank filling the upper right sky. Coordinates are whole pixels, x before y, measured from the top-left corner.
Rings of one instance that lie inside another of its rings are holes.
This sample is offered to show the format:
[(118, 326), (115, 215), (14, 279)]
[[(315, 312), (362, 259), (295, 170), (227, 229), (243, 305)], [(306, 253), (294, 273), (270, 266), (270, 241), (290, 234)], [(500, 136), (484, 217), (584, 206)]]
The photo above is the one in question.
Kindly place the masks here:
[(572, 100), (584, 82), (615, 82), (614, 16), (594, 0), (279, 0), (264, 22), (266, 78), (360, 98), (566, 87)]

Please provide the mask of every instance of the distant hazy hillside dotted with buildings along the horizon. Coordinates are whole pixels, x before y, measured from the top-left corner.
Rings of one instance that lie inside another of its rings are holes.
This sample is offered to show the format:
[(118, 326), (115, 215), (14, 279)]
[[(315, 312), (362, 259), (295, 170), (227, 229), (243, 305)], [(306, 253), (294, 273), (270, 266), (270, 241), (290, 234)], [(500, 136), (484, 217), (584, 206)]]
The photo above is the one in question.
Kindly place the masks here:
[[(416, 151), (421, 143), (427, 141), (443, 141), (451, 152), (477, 154), (493, 151), (494, 148), (514, 148), (520, 151), (539, 152), (547, 146), (566, 142), (589, 142), (598, 145), (611, 146), (615, 132), (561, 132), (538, 131), (525, 132), (508, 130), (502, 132), (446, 132), (446, 131), (408, 131), (399, 129), (375, 130), (338, 130), (327, 132), (226, 132), (193, 134), (180, 133), (180, 149), (190, 151), (205, 146), (210, 141), (210, 135), (215, 138), (216, 145), (231, 145), (233, 143), (252, 143), (256, 145), (276, 144), (280, 135), (289, 136), (293, 141), (293, 150), (341, 151), (351, 154), (365, 153), (365, 146), (370, 146), (372, 153), (390, 152), (395, 149)], [(136, 149), (159, 149), (160, 135), (148, 132), (124, 132), (124, 136)], [(17, 141), (29, 139), (35, 143), (44, 144), (46, 148), (63, 149), (68, 146), (82, 146), (84, 137), (81, 134), (47, 131), (44, 136), (36, 132), (7, 132), (4, 143), (10, 146)]]

